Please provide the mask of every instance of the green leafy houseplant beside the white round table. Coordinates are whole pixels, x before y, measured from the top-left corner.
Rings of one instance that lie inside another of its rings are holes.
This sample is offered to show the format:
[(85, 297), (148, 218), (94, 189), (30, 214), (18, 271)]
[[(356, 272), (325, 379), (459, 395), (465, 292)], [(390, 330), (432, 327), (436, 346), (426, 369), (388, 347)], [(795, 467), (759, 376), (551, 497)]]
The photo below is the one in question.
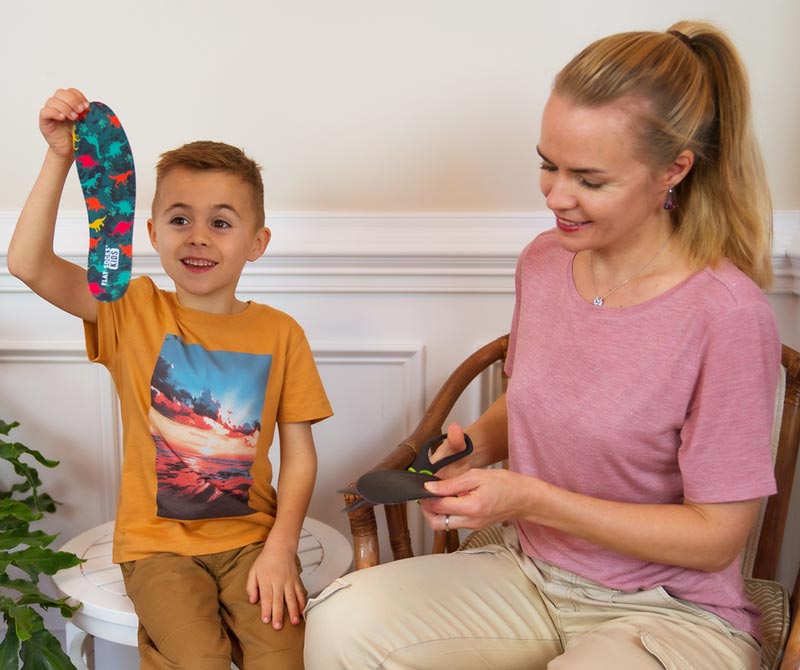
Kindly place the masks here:
[(40, 591), (39, 576), (53, 575), (81, 559), (50, 549), (57, 536), (30, 527), (54, 512), (58, 503), (40, 490), (39, 473), (29, 462), (33, 459), (53, 468), (58, 461), (4, 439), (17, 426), (16, 421), (0, 419), (0, 460), (19, 477), (7, 490), (5, 482), (0, 482), (0, 611), (7, 626), (0, 643), (0, 670), (74, 670), (58, 639), (47, 630), (39, 608), (56, 608), (62, 616), (70, 617), (77, 607), (68, 604), (66, 598), (56, 599)]

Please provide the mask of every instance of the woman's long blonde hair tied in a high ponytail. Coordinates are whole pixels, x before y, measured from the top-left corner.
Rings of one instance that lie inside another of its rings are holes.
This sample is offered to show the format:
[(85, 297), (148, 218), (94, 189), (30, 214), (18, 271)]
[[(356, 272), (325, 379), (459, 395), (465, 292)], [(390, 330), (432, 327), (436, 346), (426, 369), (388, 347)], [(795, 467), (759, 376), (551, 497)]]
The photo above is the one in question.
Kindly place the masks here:
[(557, 75), (553, 91), (579, 105), (630, 100), (636, 146), (654, 168), (689, 149), (675, 187), (676, 235), (697, 267), (728, 258), (762, 288), (772, 282), (772, 206), (750, 112), (747, 73), (710, 24), (611, 35)]

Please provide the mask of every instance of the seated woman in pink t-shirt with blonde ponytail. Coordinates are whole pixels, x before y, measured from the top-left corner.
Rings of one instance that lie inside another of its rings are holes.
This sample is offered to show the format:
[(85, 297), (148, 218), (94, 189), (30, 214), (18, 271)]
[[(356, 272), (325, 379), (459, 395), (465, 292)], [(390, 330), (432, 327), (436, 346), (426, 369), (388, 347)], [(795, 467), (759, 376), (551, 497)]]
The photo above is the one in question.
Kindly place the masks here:
[(339, 580), (308, 670), (759, 667), (738, 556), (775, 490), (780, 343), (743, 66), (702, 23), (599, 40), (537, 149), (556, 226), (519, 260), (508, 393), (422, 502), (505, 543)]

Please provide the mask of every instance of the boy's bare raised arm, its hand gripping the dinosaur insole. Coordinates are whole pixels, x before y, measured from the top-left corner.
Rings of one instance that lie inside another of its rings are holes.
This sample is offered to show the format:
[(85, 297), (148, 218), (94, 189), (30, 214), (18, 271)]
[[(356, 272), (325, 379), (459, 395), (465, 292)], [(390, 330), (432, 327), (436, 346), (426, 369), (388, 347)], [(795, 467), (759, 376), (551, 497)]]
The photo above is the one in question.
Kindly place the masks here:
[(58, 90), (39, 112), (48, 149), (11, 238), (8, 269), (56, 307), (96, 322), (97, 301), (86, 284), (86, 270), (53, 250), (58, 205), (73, 162), (72, 124), (88, 105), (80, 91)]

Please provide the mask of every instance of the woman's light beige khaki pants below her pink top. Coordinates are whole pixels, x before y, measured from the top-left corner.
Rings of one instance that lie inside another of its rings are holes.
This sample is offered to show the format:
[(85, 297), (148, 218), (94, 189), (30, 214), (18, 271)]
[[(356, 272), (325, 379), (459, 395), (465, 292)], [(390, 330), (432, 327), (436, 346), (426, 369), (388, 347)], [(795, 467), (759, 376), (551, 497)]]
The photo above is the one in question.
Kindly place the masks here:
[(306, 608), (307, 670), (758, 670), (719, 617), (534, 561), (513, 528), (505, 543), (336, 580)]

